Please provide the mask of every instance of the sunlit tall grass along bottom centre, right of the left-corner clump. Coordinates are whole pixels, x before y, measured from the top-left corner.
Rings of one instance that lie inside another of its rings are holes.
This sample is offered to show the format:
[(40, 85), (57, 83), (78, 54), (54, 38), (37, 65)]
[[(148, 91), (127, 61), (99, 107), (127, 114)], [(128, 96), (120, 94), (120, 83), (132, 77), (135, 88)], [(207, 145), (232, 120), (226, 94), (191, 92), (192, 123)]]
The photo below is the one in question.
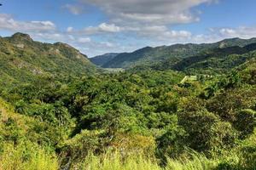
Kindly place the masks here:
[(167, 159), (166, 167), (160, 167), (154, 158), (142, 155), (123, 157), (120, 153), (94, 156), (90, 154), (84, 161), (74, 165), (72, 169), (81, 170), (205, 170), (214, 169), (218, 161), (208, 160), (206, 156), (193, 154), (191, 159)]

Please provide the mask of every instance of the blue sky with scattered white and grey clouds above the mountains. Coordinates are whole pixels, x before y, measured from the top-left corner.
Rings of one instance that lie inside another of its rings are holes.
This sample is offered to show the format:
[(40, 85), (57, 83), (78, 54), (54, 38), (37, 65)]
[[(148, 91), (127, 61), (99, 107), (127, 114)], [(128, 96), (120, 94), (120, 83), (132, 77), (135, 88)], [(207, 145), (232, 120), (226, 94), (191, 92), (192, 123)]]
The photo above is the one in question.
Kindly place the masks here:
[(0, 36), (66, 42), (93, 57), (256, 37), (255, 0), (0, 0)]

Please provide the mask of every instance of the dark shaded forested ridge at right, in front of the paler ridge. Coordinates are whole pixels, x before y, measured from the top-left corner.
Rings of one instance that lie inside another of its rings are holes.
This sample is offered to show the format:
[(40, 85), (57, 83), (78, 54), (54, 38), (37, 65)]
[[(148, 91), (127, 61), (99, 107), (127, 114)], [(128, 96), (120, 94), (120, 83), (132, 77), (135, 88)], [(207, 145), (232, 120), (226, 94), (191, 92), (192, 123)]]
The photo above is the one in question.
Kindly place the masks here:
[[(214, 48), (205, 54), (182, 59), (172, 66), (173, 70), (201, 73), (224, 73), (247, 60), (256, 58), (256, 43), (245, 47)], [(164, 63), (162, 65), (165, 65)], [(161, 66), (160, 66), (161, 67)], [(163, 66), (162, 66), (163, 67)]]

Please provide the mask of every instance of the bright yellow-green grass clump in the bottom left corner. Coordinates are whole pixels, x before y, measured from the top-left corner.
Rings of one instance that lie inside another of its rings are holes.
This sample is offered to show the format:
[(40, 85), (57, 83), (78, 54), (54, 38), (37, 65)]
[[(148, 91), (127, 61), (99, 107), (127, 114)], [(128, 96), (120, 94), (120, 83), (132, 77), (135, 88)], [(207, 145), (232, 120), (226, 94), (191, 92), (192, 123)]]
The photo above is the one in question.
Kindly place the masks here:
[(34, 144), (3, 144), (0, 170), (57, 170), (58, 160), (48, 150)]

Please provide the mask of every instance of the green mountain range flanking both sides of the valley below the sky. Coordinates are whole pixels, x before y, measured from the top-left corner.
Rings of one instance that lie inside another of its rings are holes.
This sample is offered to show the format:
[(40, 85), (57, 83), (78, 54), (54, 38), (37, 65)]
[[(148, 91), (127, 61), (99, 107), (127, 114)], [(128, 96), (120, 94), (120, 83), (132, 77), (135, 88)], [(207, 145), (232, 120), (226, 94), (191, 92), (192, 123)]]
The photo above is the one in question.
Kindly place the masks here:
[(222, 74), (256, 56), (256, 38), (225, 39), (215, 43), (146, 47), (132, 53), (103, 54), (88, 59), (62, 42), (36, 42), (23, 33), (0, 37), (0, 84), (15, 85), (42, 79), (65, 81), (102, 68), (183, 71)]

